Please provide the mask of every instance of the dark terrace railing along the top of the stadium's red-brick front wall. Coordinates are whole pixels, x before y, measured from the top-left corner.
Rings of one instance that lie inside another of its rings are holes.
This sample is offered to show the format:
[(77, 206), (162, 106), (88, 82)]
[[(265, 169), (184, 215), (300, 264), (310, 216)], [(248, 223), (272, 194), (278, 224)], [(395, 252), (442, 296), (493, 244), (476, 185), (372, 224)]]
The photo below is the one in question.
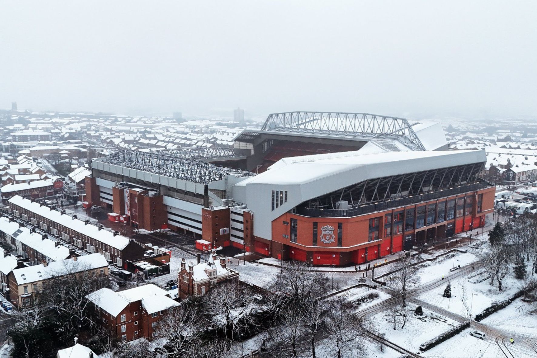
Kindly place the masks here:
[(420, 194), (416, 196), (410, 196), (407, 198), (398, 198), (386, 202), (362, 205), (357, 207), (351, 207), (350, 209), (310, 209), (308, 207), (297, 207), (297, 214), (308, 216), (308, 217), (352, 217), (363, 214), (372, 213), (375, 211), (382, 211), (392, 209), (394, 207), (400, 207), (405, 205), (417, 204), (421, 202), (426, 202), (434, 199), (444, 198), (446, 196), (452, 196), (457, 194), (462, 194), (468, 191), (474, 191), (479, 189), (485, 189), (490, 186), (487, 182), (474, 183), (461, 185), (460, 187), (439, 190), (434, 192), (429, 192), (427, 194)]

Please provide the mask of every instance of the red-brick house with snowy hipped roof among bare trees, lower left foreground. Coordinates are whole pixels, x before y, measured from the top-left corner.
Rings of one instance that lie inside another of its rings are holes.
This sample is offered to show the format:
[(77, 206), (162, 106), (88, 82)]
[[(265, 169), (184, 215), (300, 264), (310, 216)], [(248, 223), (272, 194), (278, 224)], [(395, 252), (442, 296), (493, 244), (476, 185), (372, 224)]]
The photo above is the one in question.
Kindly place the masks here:
[(169, 293), (147, 284), (120, 292), (102, 288), (86, 297), (99, 311), (102, 325), (122, 340), (132, 341), (151, 339), (158, 321), (171, 307), (179, 305)]

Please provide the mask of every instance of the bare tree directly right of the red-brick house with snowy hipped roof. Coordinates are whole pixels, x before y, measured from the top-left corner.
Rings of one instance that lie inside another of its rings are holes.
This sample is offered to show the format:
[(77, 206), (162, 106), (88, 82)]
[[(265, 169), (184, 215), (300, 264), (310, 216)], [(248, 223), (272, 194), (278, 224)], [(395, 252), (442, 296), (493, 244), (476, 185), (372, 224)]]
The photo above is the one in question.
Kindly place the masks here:
[(202, 319), (196, 306), (183, 303), (161, 318), (155, 335), (166, 341), (164, 348), (171, 357), (184, 356), (200, 343)]

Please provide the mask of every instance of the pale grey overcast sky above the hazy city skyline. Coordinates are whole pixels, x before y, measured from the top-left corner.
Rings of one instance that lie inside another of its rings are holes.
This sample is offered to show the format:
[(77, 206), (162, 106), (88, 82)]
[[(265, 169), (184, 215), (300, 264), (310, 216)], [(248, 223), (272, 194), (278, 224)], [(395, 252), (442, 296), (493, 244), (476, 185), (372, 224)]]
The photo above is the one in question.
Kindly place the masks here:
[(537, 1), (2, 1), (0, 109), (537, 114)]

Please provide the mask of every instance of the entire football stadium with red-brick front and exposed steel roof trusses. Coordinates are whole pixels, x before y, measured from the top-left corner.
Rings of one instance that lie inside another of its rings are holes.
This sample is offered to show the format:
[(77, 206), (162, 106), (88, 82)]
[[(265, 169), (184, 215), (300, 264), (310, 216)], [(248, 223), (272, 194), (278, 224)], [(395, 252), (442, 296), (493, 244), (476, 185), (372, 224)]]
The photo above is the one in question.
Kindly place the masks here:
[(122, 150), (92, 161), (86, 202), (281, 260), (345, 265), (484, 225), (484, 151), (441, 124), (367, 113), (270, 114), (229, 148)]

